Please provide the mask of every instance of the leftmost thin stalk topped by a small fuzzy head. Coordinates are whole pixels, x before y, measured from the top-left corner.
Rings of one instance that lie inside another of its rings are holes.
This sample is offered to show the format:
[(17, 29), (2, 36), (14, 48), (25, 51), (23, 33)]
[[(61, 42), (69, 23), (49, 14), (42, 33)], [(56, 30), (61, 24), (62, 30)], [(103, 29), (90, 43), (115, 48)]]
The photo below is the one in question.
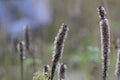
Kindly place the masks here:
[(21, 72), (21, 80), (23, 80), (23, 53), (24, 53), (24, 42), (19, 42), (17, 45), (18, 52), (20, 53), (20, 72)]

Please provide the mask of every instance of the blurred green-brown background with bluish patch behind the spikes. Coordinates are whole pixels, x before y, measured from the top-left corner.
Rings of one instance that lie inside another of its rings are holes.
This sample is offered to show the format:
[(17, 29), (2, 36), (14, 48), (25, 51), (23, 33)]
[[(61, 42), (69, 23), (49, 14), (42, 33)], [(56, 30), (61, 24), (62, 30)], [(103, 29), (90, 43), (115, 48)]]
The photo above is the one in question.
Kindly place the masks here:
[[(0, 80), (20, 80), (16, 45), (30, 27), (35, 70), (52, 64), (53, 42), (62, 23), (69, 27), (61, 62), (66, 80), (101, 80), (101, 49), (97, 7), (104, 5), (111, 28), (109, 80), (114, 80), (116, 39), (120, 37), (119, 0), (0, 0)], [(32, 57), (25, 54), (24, 80), (32, 80)]]

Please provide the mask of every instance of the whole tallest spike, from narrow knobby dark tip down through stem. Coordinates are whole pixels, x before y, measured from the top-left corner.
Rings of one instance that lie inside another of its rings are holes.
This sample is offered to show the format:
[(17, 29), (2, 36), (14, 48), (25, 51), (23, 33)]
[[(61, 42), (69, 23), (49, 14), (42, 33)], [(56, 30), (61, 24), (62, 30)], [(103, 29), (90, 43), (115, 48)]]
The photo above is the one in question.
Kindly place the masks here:
[(105, 9), (102, 6), (98, 7), (98, 14), (100, 17), (100, 33), (101, 33), (101, 55), (103, 60), (103, 80), (107, 80), (107, 71), (109, 65), (110, 54), (110, 27), (108, 19), (106, 18)]

